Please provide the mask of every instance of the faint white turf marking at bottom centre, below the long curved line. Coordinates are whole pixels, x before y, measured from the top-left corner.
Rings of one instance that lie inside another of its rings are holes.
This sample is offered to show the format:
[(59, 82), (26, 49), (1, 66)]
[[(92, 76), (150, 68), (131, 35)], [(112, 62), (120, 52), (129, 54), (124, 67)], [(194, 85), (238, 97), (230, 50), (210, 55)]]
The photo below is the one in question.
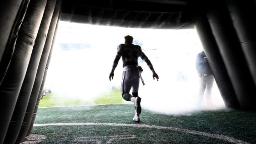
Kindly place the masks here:
[(134, 139), (135, 135), (127, 134), (127, 135), (112, 135), (112, 136), (99, 136), (99, 137), (78, 137), (75, 138), (74, 142), (96, 142), (97, 144), (101, 144), (103, 139), (109, 139), (106, 144), (110, 144), (114, 140), (121, 139)]

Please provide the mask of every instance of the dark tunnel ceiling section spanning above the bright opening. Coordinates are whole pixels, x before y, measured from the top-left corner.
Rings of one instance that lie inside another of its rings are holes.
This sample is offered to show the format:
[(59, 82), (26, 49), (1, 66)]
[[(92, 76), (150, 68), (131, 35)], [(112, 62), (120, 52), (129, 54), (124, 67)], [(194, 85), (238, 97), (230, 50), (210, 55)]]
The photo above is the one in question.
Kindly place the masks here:
[(188, 0), (63, 0), (62, 21), (93, 25), (184, 29)]

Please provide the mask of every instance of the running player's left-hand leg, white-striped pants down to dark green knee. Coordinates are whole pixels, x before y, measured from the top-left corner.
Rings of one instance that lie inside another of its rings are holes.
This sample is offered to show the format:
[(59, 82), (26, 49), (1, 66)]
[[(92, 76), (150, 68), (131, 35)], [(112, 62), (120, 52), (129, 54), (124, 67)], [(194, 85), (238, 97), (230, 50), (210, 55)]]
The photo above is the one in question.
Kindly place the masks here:
[(131, 101), (132, 95), (129, 94), (132, 88), (132, 79), (129, 71), (123, 71), (123, 78), (121, 83), (122, 97), (126, 101)]

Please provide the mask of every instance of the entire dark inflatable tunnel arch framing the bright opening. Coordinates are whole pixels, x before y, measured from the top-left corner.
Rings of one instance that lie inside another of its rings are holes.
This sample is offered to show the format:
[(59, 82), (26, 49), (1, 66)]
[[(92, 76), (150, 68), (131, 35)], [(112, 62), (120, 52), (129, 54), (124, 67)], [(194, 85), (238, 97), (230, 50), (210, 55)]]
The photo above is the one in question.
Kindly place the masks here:
[(195, 28), (225, 106), (256, 110), (254, 0), (6, 0), (0, 12), (0, 144), (31, 133), (59, 20)]

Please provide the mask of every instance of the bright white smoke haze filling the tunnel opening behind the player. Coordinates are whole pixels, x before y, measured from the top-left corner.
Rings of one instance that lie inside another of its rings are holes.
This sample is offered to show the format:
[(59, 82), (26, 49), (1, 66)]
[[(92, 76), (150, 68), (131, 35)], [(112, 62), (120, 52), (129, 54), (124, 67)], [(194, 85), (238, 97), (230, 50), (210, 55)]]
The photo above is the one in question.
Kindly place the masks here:
[(51, 87), (55, 96), (93, 101), (109, 92), (112, 85), (120, 86), (121, 59), (112, 81), (108, 75), (117, 46), (124, 43), (126, 35), (133, 36), (134, 44), (142, 47), (159, 75), (159, 81), (153, 80), (146, 63), (139, 60), (146, 84), (140, 83), (139, 88), (144, 110), (182, 114), (224, 107), (215, 82), (211, 105), (205, 97), (198, 104), (195, 59), (203, 48), (195, 30), (120, 28), (60, 21), (45, 87)]

